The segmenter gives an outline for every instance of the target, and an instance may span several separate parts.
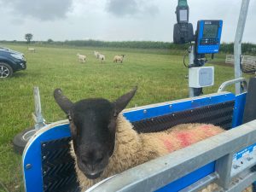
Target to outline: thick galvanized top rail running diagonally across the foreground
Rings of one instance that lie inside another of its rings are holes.
[[[108,179],[91,191],[154,191],[255,143],[256,120],[177,150]],[[221,179],[221,178],[220,178]]]

